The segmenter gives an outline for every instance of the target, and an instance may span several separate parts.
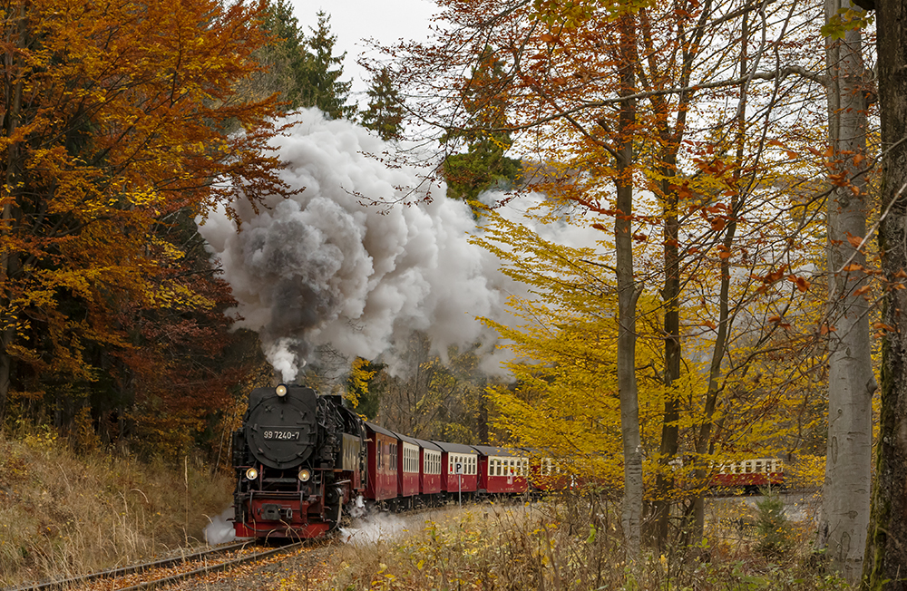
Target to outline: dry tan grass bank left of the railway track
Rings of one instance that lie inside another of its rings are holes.
[[[0,436],[0,586],[74,576],[198,544],[232,481],[198,462],[76,454],[51,431]]]

